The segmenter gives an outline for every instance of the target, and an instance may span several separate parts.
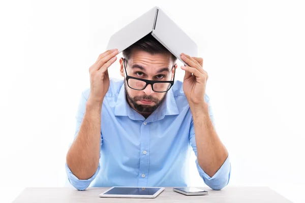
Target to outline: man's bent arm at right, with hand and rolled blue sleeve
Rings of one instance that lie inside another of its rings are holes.
[[[210,118],[205,94],[208,75],[203,70],[203,58],[184,53],[181,58],[189,65],[181,69],[186,71],[183,89],[192,113],[190,142],[197,156],[198,172],[209,187],[220,190],[229,182],[231,164]]]

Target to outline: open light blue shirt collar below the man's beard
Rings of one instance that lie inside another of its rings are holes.
[[[126,99],[124,83],[121,86],[114,109],[115,116],[128,116],[132,120],[145,120],[145,118],[132,109]],[[179,110],[172,88],[166,93],[162,104],[146,119],[146,121],[157,121],[167,115],[178,115]]]

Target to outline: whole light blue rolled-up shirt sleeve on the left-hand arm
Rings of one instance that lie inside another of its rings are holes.
[[[77,137],[77,133],[79,131],[79,128],[80,128],[80,125],[81,125],[81,122],[82,122],[82,119],[84,117],[84,114],[85,114],[85,109],[86,109],[86,102],[87,102],[87,98],[84,96],[84,92],[82,92],[81,94],[81,98],[80,98],[80,101],[79,101],[79,105],[78,105],[78,109],[77,109],[77,113],[76,113],[76,127],[75,127],[75,135],[74,135],[74,140],[75,138]],[[73,140],[73,141],[74,141]],[[103,138],[102,138],[102,134],[101,134],[101,142],[100,142],[100,145],[102,146],[102,141],[103,141]],[[72,143],[71,143],[72,145]],[[70,146],[71,146],[70,145]],[[101,157],[101,152],[100,152],[100,157]],[[80,180],[78,179],[70,170],[67,162],[65,164],[66,166],[66,173],[67,173],[67,176],[68,176],[68,180],[70,182],[70,184],[75,187],[77,190],[85,190],[87,187],[89,187],[90,183],[96,178],[96,176],[98,175],[99,171],[100,171],[100,163],[98,165],[98,168],[97,168],[97,171],[95,172],[95,174],[87,179],[87,180]]]

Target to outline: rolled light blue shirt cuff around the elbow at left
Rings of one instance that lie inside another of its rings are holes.
[[[71,172],[68,164],[66,163],[66,172],[67,172],[68,180],[69,180],[70,184],[73,185],[73,187],[75,187],[77,190],[85,190],[98,175],[98,173],[100,171],[100,167],[101,166],[99,163],[96,173],[91,178],[89,178],[87,180],[79,180],[76,176],[74,176],[74,174]]]

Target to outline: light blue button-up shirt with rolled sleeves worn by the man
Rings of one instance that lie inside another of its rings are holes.
[[[89,89],[82,92],[75,136],[85,112]],[[209,104],[209,97],[205,94]],[[209,116],[214,118],[209,105]],[[75,138],[74,138],[75,139]],[[188,185],[188,159],[192,149],[197,157],[195,131],[182,82],[175,81],[163,103],[146,119],[127,103],[123,80],[110,80],[101,114],[101,151],[96,173],[79,180],[66,163],[69,182],[78,190],[94,187],[185,187]],[[209,177],[199,166],[204,183],[220,190],[230,179],[229,156],[218,172]]]

